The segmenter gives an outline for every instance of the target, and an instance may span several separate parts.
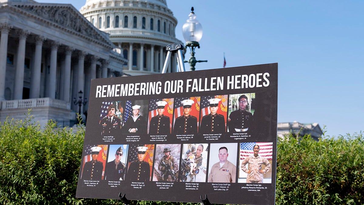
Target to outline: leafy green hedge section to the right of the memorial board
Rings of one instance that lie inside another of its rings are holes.
[[[364,204],[363,134],[278,139],[276,204]]]

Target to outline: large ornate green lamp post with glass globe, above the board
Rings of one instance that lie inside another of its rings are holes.
[[[196,15],[193,12],[193,7],[191,8],[191,13],[188,15],[189,19],[187,19],[186,23],[183,24],[182,34],[183,38],[186,40],[186,47],[190,48],[191,57],[188,61],[184,61],[185,63],[190,64],[190,70],[195,70],[195,65],[198,62],[207,62],[207,61],[197,61],[195,58],[195,49],[196,47],[200,48],[199,41],[202,38],[202,26],[196,19]]]

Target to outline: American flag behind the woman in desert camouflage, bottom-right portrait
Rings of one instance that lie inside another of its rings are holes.
[[[253,155],[254,145],[259,145],[259,154],[268,160],[272,160],[273,142],[243,142],[240,143],[240,159],[243,160],[247,156]]]

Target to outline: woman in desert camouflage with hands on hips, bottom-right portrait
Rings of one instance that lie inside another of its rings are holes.
[[[248,156],[241,162],[241,170],[248,173],[246,183],[263,183],[263,174],[267,173],[270,169],[268,159],[258,155],[259,150],[259,145],[254,145],[254,155]],[[246,169],[246,164],[248,164],[249,169]],[[262,170],[262,165],[265,165],[264,170]]]

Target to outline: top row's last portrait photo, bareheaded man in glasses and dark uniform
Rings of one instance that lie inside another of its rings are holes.
[[[229,95],[229,107],[231,110],[235,109],[229,114],[227,123],[229,132],[237,132],[242,134],[252,133],[253,97],[255,97],[255,93]]]

